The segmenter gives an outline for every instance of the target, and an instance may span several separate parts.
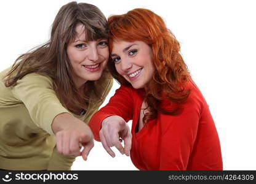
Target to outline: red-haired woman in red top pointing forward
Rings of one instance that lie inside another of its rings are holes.
[[[209,107],[162,18],[134,9],[108,23],[108,68],[121,87],[90,120],[95,139],[113,157],[113,146],[130,155],[140,170],[222,170]]]

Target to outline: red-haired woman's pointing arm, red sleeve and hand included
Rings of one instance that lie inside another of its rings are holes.
[[[132,136],[126,122],[132,119],[132,95],[130,88],[121,85],[110,102],[95,113],[89,123],[95,140],[101,140],[105,150],[113,157],[114,152],[110,149],[113,146],[121,153],[129,155]],[[124,148],[119,142],[119,137],[124,140]]]

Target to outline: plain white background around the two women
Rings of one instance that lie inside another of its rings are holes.
[[[49,39],[55,15],[67,2],[0,1],[0,71]],[[224,169],[256,170],[255,1],[81,2],[98,6],[106,17],[138,7],[163,17],[180,41],[183,58],[209,104]],[[116,88],[117,83],[108,99]],[[99,142],[88,160],[77,158],[72,169],[137,170],[129,157],[117,151],[116,158],[111,158]]]

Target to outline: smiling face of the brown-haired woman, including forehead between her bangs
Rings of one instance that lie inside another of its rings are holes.
[[[74,71],[74,83],[80,88],[88,80],[98,80],[108,61],[108,40],[87,41],[84,26],[76,26],[76,37],[66,48]]]

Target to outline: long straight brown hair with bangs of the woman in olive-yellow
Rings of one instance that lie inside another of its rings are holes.
[[[84,84],[84,94],[74,85],[73,69],[66,53],[67,45],[76,37],[76,25],[85,27],[86,40],[108,39],[108,23],[103,13],[94,5],[70,2],[60,8],[52,25],[50,40],[38,48],[19,56],[6,75],[5,85],[15,86],[26,74],[38,73],[54,81],[54,90],[63,105],[71,111],[86,109],[89,99],[101,100],[97,94],[106,77]],[[97,85],[96,85],[97,83]]]

